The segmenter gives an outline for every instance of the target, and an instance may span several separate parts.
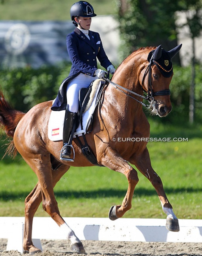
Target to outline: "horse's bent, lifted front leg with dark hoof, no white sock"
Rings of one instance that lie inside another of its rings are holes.
[[[130,210],[134,189],[138,183],[138,174],[137,171],[127,163],[127,161],[121,158],[121,156],[119,156],[119,154],[110,147],[106,149],[105,154],[102,155],[99,162],[109,169],[123,173],[129,183],[128,190],[122,204],[112,206],[110,208],[109,218],[111,220],[115,220],[122,217],[126,211]]]

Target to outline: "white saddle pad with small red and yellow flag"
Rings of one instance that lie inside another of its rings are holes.
[[[99,80],[97,82],[99,82],[99,83],[96,85],[97,88],[96,88],[95,93],[93,93],[94,98],[92,100],[92,104],[90,106],[88,106],[88,104],[87,104],[87,106],[86,106],[87,110],[82,115],[83,130],[81,129],[81,124],[79,124],[79,127],[76,129],[76,131],[74,133],[74,137],[75,137],[75,135],[81,136],[82,133],[86,134],[86,132],[88,131],[88,127],[90,125],[90,119],[95,110],[96,98],[99,93],[99,89],[101,87],[101,81]],[[48,138],[51,141],[62,140],[63,126],[64,126],[64,115],[65,115],[65,110],[51,111],[50,119],[48,122]]]

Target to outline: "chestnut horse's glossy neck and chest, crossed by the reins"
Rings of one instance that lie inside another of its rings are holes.
[[[136,67],[134,67],[134,63]],[[139,95],[143,95],[139,80],[141,80],[140,76],[143,76],[142,74],[145,67],[146,64],[142,63],[142,59],[140,61],[136,60],[136,62],[134,62],[133,59],[129,59],[128,65],[123,62],[116,70],[112,82]],[[99,105],[101,107],[98,111],[101,127],[103,127],[104,123],[105,127],[108,127],[108,131],[110,130],[111,132],[121,132],[130,136],[136,131],[140,134],[144,133],[144,135],[147,136],[149,134],[149,126],[142,105],[129,96],[134,95],[127,91],[125,91],[125,93],[126,94],[109,83],[103,94],[101,105]],[[134,98],[140,101],[142,100],[138,96],[134,96]]]

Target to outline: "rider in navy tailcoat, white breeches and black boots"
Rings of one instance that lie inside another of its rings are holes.
[[[72,62],[69,74],[71,78],[66,89],[66,112],[61,150],[61,159],[66,161],[73,161],[71,148],[79,109],[79,90],[89,87],[93,80],[103,78],[107,73],[105,70],[97,69],[96,57],[108,72],[111,74],[115,72],[114,66],[103,49],[99,33],[89,30],[91,19],[96,16],[92,5],[85,1],[76,2],[70,9],[70,16],[76,28],[66,37],[67,51]]]

